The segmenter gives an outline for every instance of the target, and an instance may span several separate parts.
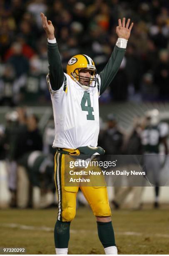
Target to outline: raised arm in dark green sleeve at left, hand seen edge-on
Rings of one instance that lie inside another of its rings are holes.
[[[47,34],[47,56],[49,62],[49,78],[53,91],[60,89],[64,82],[64,72],[60,61],[60,54],[57,47],[54,31],[55,28],[50,20],[47,20],[43,13],[40,13],[42,26]]]

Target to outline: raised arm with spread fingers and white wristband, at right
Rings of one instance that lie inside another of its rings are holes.
[[[130,37],[130,32],[133,26],[133,23],[131,23],[131,25],[129,26],[130,19],[127,20],[126,25],[125,18],[123,18],[122,22],[121,19],[119,19],[118,21],[119,26],[117,26],[116,28],[116,33],[119,38],[108,63],[99,74],[101,79],[100,95],[106,90],[106,88],[109,86],[109,84],[112,82],[113,78],[117,74],[117,71],[119,70],[126,51],[127,41]]]

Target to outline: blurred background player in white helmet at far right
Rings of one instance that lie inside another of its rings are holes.
[[[144,166],[147,170],[149,181],[155,186],[154,207],[159,207],[159,179],[160,169],[160,144],[164,145],[165,154],[168,154],[167,137],[169,126],[160,122],[157,109],[148,110],[146,113],[145,127],[141,133],[141,142],[144,154]]]

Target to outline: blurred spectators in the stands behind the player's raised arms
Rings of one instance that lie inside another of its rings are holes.
[[[131,18],[126,54],[100,101],[169,100],[168,0],[1,0],[0,105],[50,101],[40,12],[55,26],[63,69],[73,55],[87,54],[98,73],[117,41],[118,18]]]

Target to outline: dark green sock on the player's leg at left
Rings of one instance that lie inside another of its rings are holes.
[[[68,248],[70,238],[70,222],[57,220],[54,229],[55,248]]]

